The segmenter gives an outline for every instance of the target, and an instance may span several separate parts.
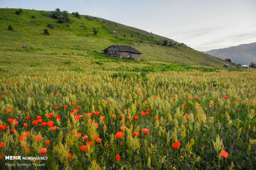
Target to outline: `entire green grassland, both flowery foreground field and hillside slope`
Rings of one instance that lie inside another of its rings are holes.
[[[255,69],[101,18],[16,10],[0,9],[0,169],[255,169]],[[113,43],[142,61],[107,57]]]

